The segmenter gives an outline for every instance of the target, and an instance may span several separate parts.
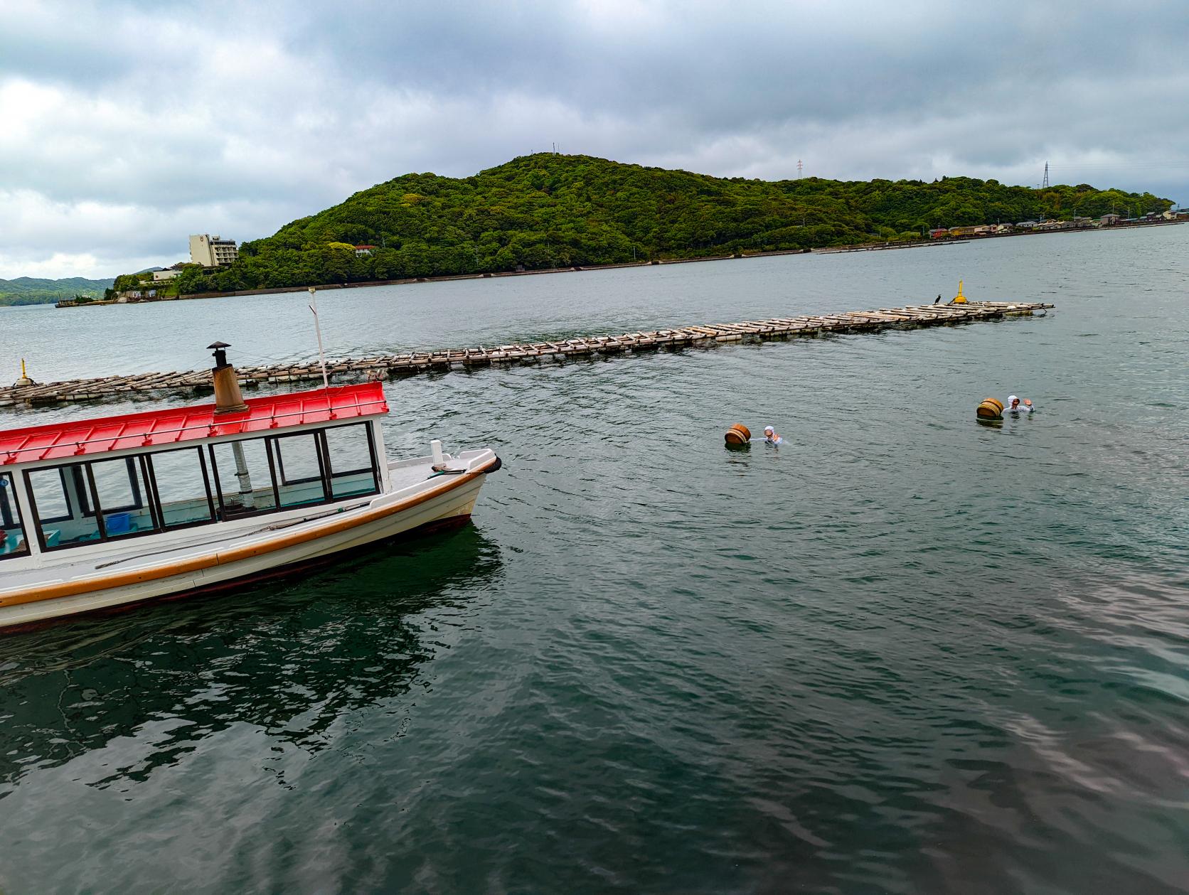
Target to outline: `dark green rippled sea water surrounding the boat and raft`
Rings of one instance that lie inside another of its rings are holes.
[[[391,383],[392,453],[504,458],[472,525],[0,638],[0,889],[1189,890],[1189,227],[358,289],[322,316],[341,355],[960,277],[1058,308]],[[0,357],[308,358],[306,301],[0,310]],[[1008,392],[1038,412],[975,424]],[[726,452],[736,421],[787,445]]]

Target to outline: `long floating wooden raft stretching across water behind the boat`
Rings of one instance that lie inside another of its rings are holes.
[[[905,308],[847,311],[799,317],[748,320],[741,323],[687,326],[678,329],[656,329],[649,333],[594,335],[564,339],[556,342],[499,345],[478,348],[410,352],[404,354],[373,354],[329,361],[327,376],[336,383],[360,379],[380,379],[423,373],[430,370],[467,370],[493,364],[533,364],[542,360],[562,360],[593,354],[652,351],[665,347],[686,347],[709,342],[763,341],[797,335],[824,333],[870,332],[888,327],[944,326],[1006,316],[1031,315],[1052,308],[1033,302],[969,302],[967,304],[913,304]],[[241,367],[239,382],[252,386],[262,383],[321,382],[322,371],[316,363],[278,364]],[[210,387],[209,370],[182,373],[139,373],[109,376],[101,379],[74,379],[40,385],[0,387],[0,406],[17,403],[56,404],[103,398],[125,398],[132,395],[193,391]]]

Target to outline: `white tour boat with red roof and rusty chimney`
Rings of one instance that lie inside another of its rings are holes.
[[[490,449],[388,461],[379,383],[0,431],[0,628],[214,591],[470,518]]]

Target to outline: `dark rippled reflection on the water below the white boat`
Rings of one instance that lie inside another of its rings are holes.
[[[237,723],[317,751],[345,712],[413,686],[435,654],[422,613],[465,613],[501,567],[468,525],[297,582],[6,637],[0,798],[32,770],[146,731],[152,748],[93,784],[145,779]]]

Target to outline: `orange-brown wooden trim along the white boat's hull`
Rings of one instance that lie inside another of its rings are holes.
[[[472,469],[471,472],[461,475],[452,475],[446,479],[443,485],[430,489],[429,491],[414,497],[405,498],[404,500],[394,503],[390,506],[367,510],[359,515],[352,513],[348,518],[336,519],[328,524],[317,525],[316,528],[307,531],[295,531],[288,535],[282,535],[279,537],[270,538],[265,543],[216,550],[205,556],[196,556],[191,560],[182,560],[168,566],[157,566],[155,568],[140,569],[137,572],[125,572],[82,581],[62,581],[46,587],[27,587],[0,597],[0,610],[29,603],[40,603],[42,600],[54,600],[63,597],[78,597],[87,593],[130,587],[133,585],[145,584],[147,581],[156,581],[163,578],[172,578],[175,575],[185,575],[194,572],[201,572],[202,569],[213,568],[215,566],[227,566],[234,562],[252,559],[254,556],[262,556],[289,547],[296,547],[310,541],[316,541],[329,535],[335,535],[341,531],[365,525],[370,522],[384,519],[398,512],[404,512],[414,506],[426,503],[427,500],[433,500],[438,497],[447,494],[451,491],[473,481],[479,475],[486,473],[489,469],[492,469],[492,467],[498,468],[498,462],[499,458],[493,458],[479,469]],[[0,622],[0,625],[4,623]]]

